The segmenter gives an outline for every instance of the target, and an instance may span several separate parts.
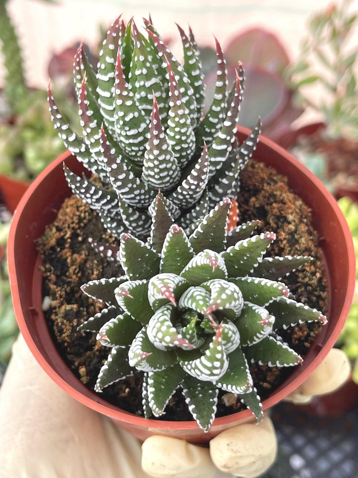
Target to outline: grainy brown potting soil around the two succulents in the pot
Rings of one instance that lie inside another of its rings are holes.
[[[242,222],[260,219],[258,231],[273,231],[277,240],[271,255],[309,255],[313,261],[284,279],[297,300],[325,313],[326,280],[318,238],[307,206],[287,187],[286,179],[262,163],[249,162],[241,174],[238,198]],[[268,205],[270,207],[268,208]],[[109,349],[96,341],[96,334],[77,328],[103,307],[84,293],[82,284],[122,274],[116,261],[108,262],[90,246],[88,238],[116,243],[103,230],[98,216],[76,197],[65,200],[56,221],[38,240],[43,256],[44,313],[53,340],[73,373],[93,390]],[[321,324],[311,323],[279,331],[292,349],[305,356]],[[253,364],[251,373],[262,399],[292,371],[290,367]],[[142,372],[103,389],[101,397],[138,415],[142,414]],[[217,416],[240,411],[244,405],[232,393],[220,392]],[[166,408],[164,420],[192,420],[180,389]]]

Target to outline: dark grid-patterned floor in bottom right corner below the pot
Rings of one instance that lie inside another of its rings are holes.
[[[262,478],[358,478],[358,404],[329,418],[280,404],[272,421],[278,459]]]

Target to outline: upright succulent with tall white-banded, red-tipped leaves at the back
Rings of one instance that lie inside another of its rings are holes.
[[[65,122],[49,88],[55,128],[101,180],[101,185],[94,184],[65,167],[68,184],[117,238],[127,231],[142,239],[149,234],[150,205],[158,188],[177,223],[192,232],[192,225],[218,201],[236,197],[240,170],[256,149],[260,121],[242,145],[234,135],[244,87],[242,66],[229,95],[216,41],[215,93],[202,118],[197,45],[191,30],[187,36],[178,28],[183,65],[151,20],[145,20],[142,34],[133,19],[126,26],[117,18],[103,42],[96,74],[79,48],[74,72],[84,139]]]

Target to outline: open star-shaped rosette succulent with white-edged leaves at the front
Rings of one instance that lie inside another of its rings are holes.
[[[258,221],[226,232],[230,205],[230,199],[221,201],[187,236],[158,193],[147,243],[121,235],[117,260],[125,275],[82,287],[106,304],[80,326],[97,331],[111,348],[96,391],[141,370],[147,418],[162,415],[181,387],[189,411],[207,431],[219,389],[236,394],[260,419],[250,363],[302,362],[277,330],[326,318],[296,302],[279,279],[310,258],[264,257],[275,235],[252,236]]]

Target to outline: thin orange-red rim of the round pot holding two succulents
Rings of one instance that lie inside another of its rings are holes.
[[[251,131],[247,128],[238,126],[238,132],[241,134],[248,135]],[[307,376],[310,375],[312,371],[319,365],[319,363],[325,358],[328,351],[335,344],[341,332],[341,329],[344,325],[345,319],[348,315],[348,312],[350,310],[351,303],[352,303],[352,297],[353,297],[353,292],[355,287],[356,259],[355,259],[355,252],[353,248],[353,241],[352,241],[350,230],[348,228],[344,215],[342,211],[340,210],[334,197],[327,191],[327,189],[323,186],[323,184],[311,171],[309,171],[303,164],[301,164],[297,159],[295,159],[291,154],[289,154],[283,148],[281,148],[280,146],[270,141],[268,138],[261,135],[260,135],[260,142],[264,144],[266,147],[268,147],[269,149],[283,156],[291,166],[293,166],[296,170],[300,171],[302,174],[307,176],[310,182],[313,183],[313,186],[315,188],[318,188],[322,192],[322,194],[326,197],[327,202],[329,203],[330,207],[334,211],[335,216],[337,217],[337,220],[342,228],[344,237],[346,239],[347,255],[348,255],[347,287],[345,289],[346,293],[344,298],[344,304],[342,306],[341,313],[340,313],[340,318],[337,322],[335,329],[331,333],[331,336],[325,341],[324,345],[322,345],[320,341],[314,342],[314,344],[310,348],[309,353],[311,353],[311,355],[314,355],[315,357],[314,359],[311,359],[311,361],[304,368],[304,370],[301,373],[298,373],[297,376],[286,385],[285,385],[285,382],[286,382],[285,381],[281,386],[275,389],[275,391],[269,396],[269,398],[263,401],[263,410],[267,410],[268,408],[276,404],[278,401],[280,401],[282,398],[284,398],[288,393],[290,393],[290,391],[294,390],[300,383],[302,383],[304,379],[307,378]],[[19,296],[19,289],[17,285],[17,272],[15,267],[16,230],[20,220],[22,219],[21,213],[23,211],[23,208],[25,207],[27,201],[33,195],[34,191],[36,191],[38,186],[42,183],[44,178],[46,178],[46,176],[51,171],[53,171],[56,167],[59,166],[59,164],[61,164],[65,159],[68,159],[69,157],[71,157],[71,154],[69,153],[69,151],[66,151],[61,156],[59,156],[55,161],[53,161],[42,173],[40,173],[40,175],[34,180],[34,182],[30,185],[28,190],[25,192],[24,196],[20,200],[14,212],[14,216],[13,216],[13,220],[12,220],[10,232],[9,232],[7,254],[8,254],[9,278],[10,278],[11,292],[12,292],[13,303],[14,303],[14,310],[15,310],[15,315],[19,324],[20,331],[23,334],[23,337],[27,345],[29,346],[30,350],[32,351],[32,354],[34,355],[35,359],[39,362],[39,364],[46,371],[46,373],[62,389],[64,389],[67,393],[69,393],[72,397],[76,398],[81,403],[87,405],[89,408],[92,408],[100,413],[103,413],[115,420],[120,420],[120,421],[124,420],[125,422],[133,425],[134,427],[138,427],[138,428],[145,427],[146,429],[149,429],[149,430],[153,428],[155,429],[156,432],[159,432],[160,430],[165,432],[166,430],[173,429],[173,428],[174,429],[178,428],[181,430],[188,430],[188,431],[198,429],[199,427],[195,421],[173,422],[173,421],[164,421],[164,420],[162,421],[162,420],[145,419],[144,417],[139,417],[137,415],[121,410],[118,407],[114,407],[113,405],[110,405],[109,403],[105,405],[104,403],[106,402],[104,402],[104,400],[98,397],[94,392],[91,392],[91,394],[94,395],[94,397],[89,397],[84,395],[82,392],[80,392],[79,390],[75,389],[72,385],[70,385],[64,378],[62,378],[62,376],[59,375],[59,373],[56,370],[54,370],[54,368],[51,366],[49,361],[46,358],[44,358],[44,356],[40,352],[38,348],[38,344],[37,344],[38,341],[36,340],[36,338],[32,337],[32,335],[29,332],[29,329],[27,327],[26,320],[24,318],[24,314],[22,311],[20,296]],[[321,334],[319,334],[319,337],[321,337]],[[54,349],[55,349],[55,346],[54,346]],[[301,365],[298,365],[298,366],[301,366]],[[73,375],[72,371],[69,368],[68,368],[68,373]],[[80,383],[81,385],[83,385],[82,382]],[[85,385],[83,386],[85,387]],[[239,418],[238,418],[238,415],[240,415]],[[253,420],[254,417],[249,409],[241,411],[241,412],[233,413],[225,417],[217,417],[215,418],[211,426],[210,432],[214,429],[220,429],[220,428],[223,429],[225,425],[235,422],[238,419],[240,420],[240,422],[242,422],[242,421]]]

